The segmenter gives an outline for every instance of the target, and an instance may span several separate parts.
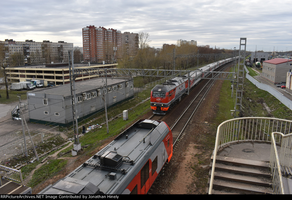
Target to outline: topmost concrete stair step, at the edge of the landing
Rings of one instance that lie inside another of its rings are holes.
[[[211,157],[211,160],[213,161],[213,155]],[[241,158],[231,158],[231,157],[226,157],[226,156],[216,156],[216,163],[217,162],[224,162],[224,163],[230,163],[233,165],[243,165],[243,166],[250,166],[250,167],[257,167],[257,168],[264,168],[264,169],[270,168],[270,165],[268,162],[257,161],[257,160],[247,160],[247,159],[241,159]]]

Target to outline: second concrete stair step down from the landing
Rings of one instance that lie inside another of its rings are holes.
[[[212,166],[212,162],[211,165]],[[212,169],[212,167],[211,167]],[[245,166],[234,166],[234,165],[226,165],[223,163],[215,163],[215,170],[223,170],[228,172],[240,173],[240,174],[249,174],[249,175],[256,175],[256,176],[265,176],[271,177],[270,171],[265,169],[257,169]]]

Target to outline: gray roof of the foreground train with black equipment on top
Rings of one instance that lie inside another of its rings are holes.
[[[141,119],[39,194],[121,194],[169,131],[165,122]]]

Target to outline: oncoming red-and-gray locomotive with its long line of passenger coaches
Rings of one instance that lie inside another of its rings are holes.
[[[162,83],[162,85],[156,85],[151,90],[150,106],[154,114],[165,115],[166,112],[178,103],[187,93],[188,90],[197,85],[202,77],[208,76],[211,71],[229,63],[233,58],[220,60],[215,63],[211,63],[196,70],[196,72],[190,72],[190,84],[187,74],[183,77],[175,77]],[[190,88],[188,88],[190,86]]]

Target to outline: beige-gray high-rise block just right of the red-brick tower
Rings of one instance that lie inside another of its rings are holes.
[[[137,55],[139,49],[139,34],[124,32],[121,34],[121,40],[122,51],[125,51],[130,59],[134,58]]]

